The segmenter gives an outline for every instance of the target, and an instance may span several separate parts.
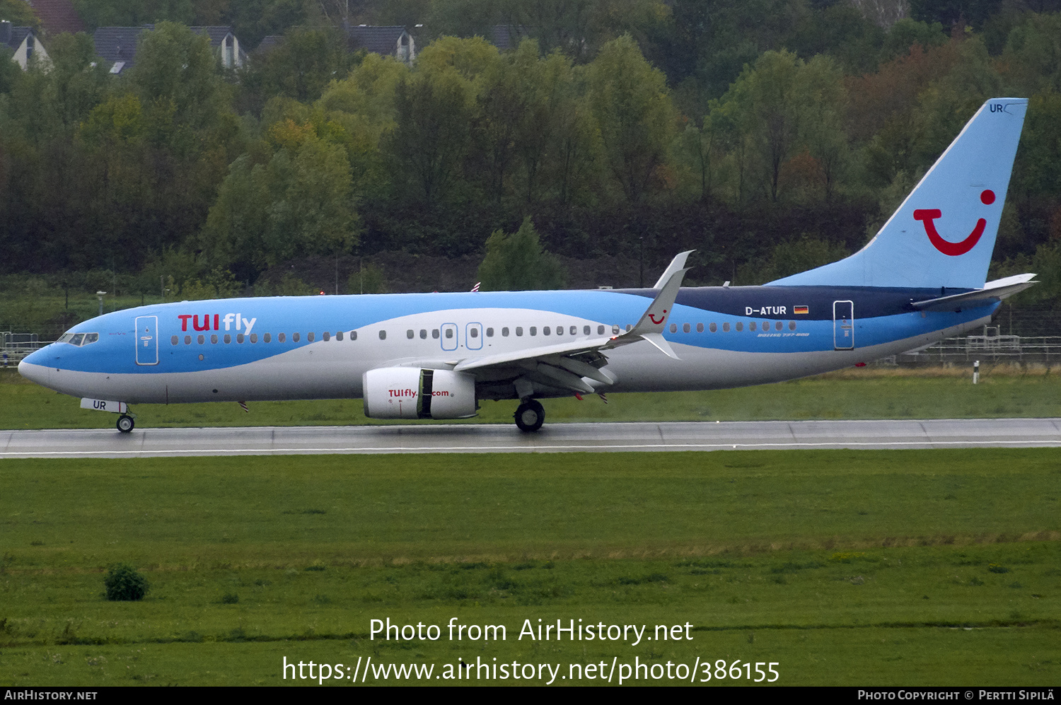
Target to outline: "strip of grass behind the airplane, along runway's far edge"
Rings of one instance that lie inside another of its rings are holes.
[[[1061,416],[1061,372],[1050,368],[984,366],[980,384],[959,368],[851,369],[783,384],[706,392],[612,394],[545,400],[545,422],[754,421],[769,419],[968,419]],[[0,428],[108,428],[115,416],[87,411],[79,400],[0,372]],[[484,402],[467,422],[511,423],[516,402]],[[139,428],[172,426],[353,425],[366,419],[361,400],[140,404]]]

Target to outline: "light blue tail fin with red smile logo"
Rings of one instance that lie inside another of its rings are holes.
[[[866,247],[770,284],[982,287],[1027,107],[985,103]]]

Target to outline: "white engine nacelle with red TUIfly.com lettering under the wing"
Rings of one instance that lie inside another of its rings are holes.
[[[384,367],[362,377],[370,419],[467,419],[475,416],[475,375]]]

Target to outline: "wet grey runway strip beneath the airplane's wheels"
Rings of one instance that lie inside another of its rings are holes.
[[[1058,446],[1061,419],[0,430],[0,458]]]

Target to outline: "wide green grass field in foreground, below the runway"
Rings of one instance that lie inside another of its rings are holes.
[[[5,460],[0,487],[3,685],[290,684],[284,657],[369,656],[1061,680],[1057,450]],[[103,599],[118,562],[144,600]],[[370,638],[388,617],[442,636]],[[454,617],[507,638],[451,640]],[[538,619],[692,638],[518,638]]]

